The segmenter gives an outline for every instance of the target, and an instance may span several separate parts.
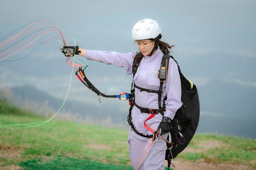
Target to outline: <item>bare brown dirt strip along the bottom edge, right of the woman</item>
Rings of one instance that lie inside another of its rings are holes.
[[[250,169],[247,165],[232,165],[232,164],[213,164],[213,163],[206,163],[204,159],[199,159],[195,162],[189,162],[182,159],[174,159],[173,162],[175,168],[171,166],[173,170],[216,170],[216,169],[225,169],[225,170],[247,170]],[[168,166],[167,161],[165,160],[164,166]]]

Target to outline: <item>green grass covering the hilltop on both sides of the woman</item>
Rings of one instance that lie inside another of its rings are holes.
[[[0,100],[0,124],[44,120],[46,118],[12,106],[6,100]],[[1,128],[0,169],[1,166],[6,165],[19,165],[26,168],[52,165],[54,169],[55,164],[56,168],[64,166],[64,160],[73,162],[70,165],[77,162],[79,165],[83,164],[83,167],[92,164],[101,167],[99,163],[101,162],[108,163],[104,166],[116,165],[115,167],[122,169],[130,163],[127,137],[127,129],[76,124],[55,119],[37,128]],[[243,164],[256,168],[256,140],[216,134],[196,134],[189,147],[201,149],[198,143],[210,140],[220,141],[225,147],[212,148],[199,153],[180,153],[177,158],[192,162],[204,159],[206,162]]]

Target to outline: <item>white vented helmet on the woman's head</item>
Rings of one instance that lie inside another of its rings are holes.
[[[159,34],[161,34],[161,28],[158,26],[158,23],[152,19],[140,20],[132,28],[133,40],[154,39]]]

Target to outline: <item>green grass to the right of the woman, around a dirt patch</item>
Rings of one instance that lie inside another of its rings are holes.
[[[203,158],[205,162],[243,164],[256,168],[256,140],[235,136],[220,136],[217,134],[196,134],[188,146],[196,146],[209,140],[220,141],[224,146],[212,148],[200,153],[180,153],[179,157],[189,161]]]

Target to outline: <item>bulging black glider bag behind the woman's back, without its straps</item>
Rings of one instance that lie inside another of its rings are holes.
[[[171,140],[174,143],[172,147],[172,158],[175,158],[188,146],[196,132],[200,115],[199,97],[196,85],[183,76],[179,65],[178,69],[181,80],[182,106],[177,110],[174,118],[181,126],[181,131],[179,133],[175,130],[170,130]],[[171,126],[175,128],[179,128],[178,124],[175,121],[171,122]],[[168,139],[169,138],[170,137],[168,137]],[[166,150],[166,158],[168,158],[168,155],[170,155],[170,150]]]

